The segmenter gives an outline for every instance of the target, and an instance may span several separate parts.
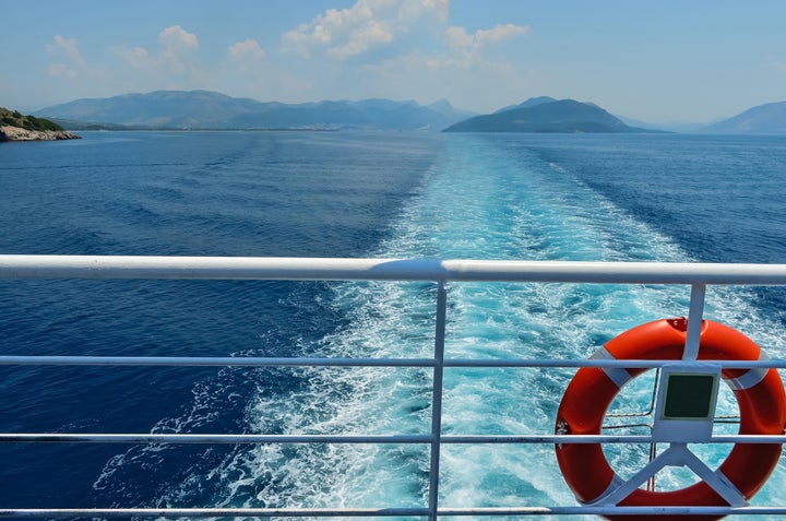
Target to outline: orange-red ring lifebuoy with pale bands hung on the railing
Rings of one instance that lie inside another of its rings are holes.
[[[657,320],[633,328],[609,341],[593,358],[680,359],[687,334],[686,319]],[[702,322],[699,359],[758,360],[765,355],[749,338],[727,325]],[[556,431],[598,435],[611,401],[620,388],[646,369],[582,367],[571,380],[557,412]],[[740,410],[739,434],[783,435],[786,425],[786,393],[774,368],[724,369]],[[750,499],[764,485],[781,457],[781,443],[736,443],[716,472],[740,495]],[[621,483],[604,455],[600,443],[557,446],[562,475],[579,501],[600,499]],[[635,489],[619,506],[725,506],[710,485],[701,481],[668,492]],[[610,519],[624,519],[611,516]],[[636,516],[636,521],[662,519]],[[693,519],[693,517],[691,517]],[[717,519],[700,517],[696,519]]]

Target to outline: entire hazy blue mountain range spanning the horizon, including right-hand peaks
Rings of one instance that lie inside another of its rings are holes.
[[[35,113],[71,130],[287,129],[431,130],[450,132],[652,132],[786,133],[786,102],[748,109],[702,128],[664,129],[615,116],[593,103],[549,96],[477,116],[446,100],[364,99],[285,104],[236,98],[210,91],[156,91],[84,98]]]

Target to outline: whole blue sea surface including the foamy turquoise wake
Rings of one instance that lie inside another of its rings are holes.
[[[83,138],[0,145],[0,253],[786,262],[786,137]],[[0,351],[429,356],[433,298],[413,283],[0,281]],[[688,298],[687,287],[453,284],[448,356],[584,358],[633,325],[687,315]],[[783,289],[711,287],[705,315],[786,356]],[[444,431],[550,434],[571,375],[448,370]],[[646,400],[644,383],[620,407]],[[416,369],[0,367],[0,430],[12,433],[430,428],[430,375]],[[733,412],[729,394],[720,407]],[[643,464],[635,448],[609,458],[623,475]],[[427,501],[428,451],[413,446],[3,443],[0,461],[0,508]],[[575,500],[550,446],[443,448],[442,506],[559,504]],[[786,464],[753,504],[786,504]]]

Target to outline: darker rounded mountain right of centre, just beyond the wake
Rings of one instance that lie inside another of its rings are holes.
[[[527,103],[527,102],[525,102]],[[629,127],[603,108],[573,99],[535,103],[476,116],[445,132],[651,132]]]

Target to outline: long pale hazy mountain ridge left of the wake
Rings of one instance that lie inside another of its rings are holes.
[[[446,102],[364,99],[303,104],[262,103],[209,91],[157,91],[76,99],[38,110],[59,121],[100,122],[131,128],[177,129],[395,129],[441,130],[467,117]]]

